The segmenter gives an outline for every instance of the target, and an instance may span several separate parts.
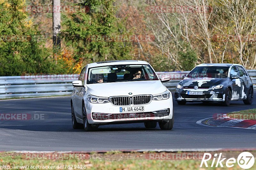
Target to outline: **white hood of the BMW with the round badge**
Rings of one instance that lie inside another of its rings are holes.
[[[86,85],[86,87],[90,94],[99,97],[154,95],[167,90],[159,80],[97,83]],[[132,92],[132,94],[129,95],[129,92]]]

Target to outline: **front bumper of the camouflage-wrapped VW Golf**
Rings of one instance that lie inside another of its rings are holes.
[[[188,95],[188,92],[203,92],[203,95]],[[174,93],[174,100],[176,101],[224,101],[225,88],[221,89],[177,89]]]

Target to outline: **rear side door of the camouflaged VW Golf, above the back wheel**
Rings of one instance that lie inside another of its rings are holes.
[[[242,66],[236,67],[240,75],[242,98],[246,98],[247,91],[249,90],[250,87],[250,78]]]

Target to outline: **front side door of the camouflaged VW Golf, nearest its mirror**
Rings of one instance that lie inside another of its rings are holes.
[[[239,78],[232,78],[233,77],[239,77],[238,70],[236,69],[236,66],[232,66],[230,70],[230,79],[232,81],[232,88],[233,93],[232,97],[233,99],[238,99],[241,97],[240,90],[241,90],[241,81]]]

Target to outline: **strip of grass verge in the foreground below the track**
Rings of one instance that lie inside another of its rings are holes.
[[[202,166],[200,168],[201,160],[199,159],[198,154],[201,154],[201,157],[204,155],[204,152],[196,152],[197,159],[189,159],[191,157],[188,156],[188,153],[192,152],[108,152],[106,153],[88,153],[86,157],[83,157],[83,159],[79,159],[79,156],[76,157],[76,159],[67,159],[70,157],[61,157],[58,156],[52,156],[53,153],[51,153],[51,156],[45,156],[41,154],[41,156],[38,155],[32,155],[30,153],[12,153],[12,152],[2,152],[0,153],[0,167],[1,165],[4,166],[10,166],[10,167],[16,167],[14,169],[28,169],[18,168],[17,166],[55,166],[55,168],[52,167],[52,169],[72,169],[70,166],[73,166],[73,169],[76,165],[83,165],[83,168],[86,166],[86,169],[216,169],[216,161],[213,164],[214,167],[205,167]],[[195,153],[195,152],[194,152]],[[211,152],[210,152],[211,153]],[[220,153],[220,152],[215,152]],[[237,158],[237,156],[241,152],[226,152],[225,154],[226,158]],[[256,152],[251,152],[253,155],[255,155]],[[27,154],[27,155],[26,155]],[[46,153],[45,153],[46,154]],[[55,153],[56,154],[56,153]],[[63,153],[62,153],[63,154]],[[68,153],[66,153],[68,154]],[[70,153],[69,153],[70,154]],[[81,154],[81,153],[80,153]],[[151,157],[149,154],[153,154]],[[183,158],[183,159],[166,159],[167,154],[169,154],[170,158]],[[183,154],[185,154],[183,156]],[[193,154],[193,153],[192,153]],[[211,153],[212,156],[214,155],[214,152]],[[49,153],[48,153],[49,155]],[[161,157],[162,155],[162,157]],[[196,154],[195,154],[196,155]],[[164,156],[164,157],[163,157]],[[173,157],[174,156],[174,157]],[[54,158],[54,159],[53,159]],[[81,157],[80,157],[81,158]],[[163,158],[163,159],[161,159]],[[222,157],[223,158],[223,157]],[[226,159],[226,160],[227,160]],[[217,160],[217,158],[216,158]],[[212,165],[213,159],[209,160],[208,166]],[[218,166],[217,169],[228,169],[225,165],[226,161],[223,161],[224,168],[221,168]],[[59,165],[59,168],[56,168]],[[68,166],[60,168],[60,166]],[[85,165],[85,166],[84,166]],[[1,169],[1,168],[0,168]],[[31,169],[31,168],[30,168]],[[33,168],[33,169],[40,169],[40,168]],[[41,167],[42,169],[42,167]],[[80,169],[80,168],[79,168]],[[232,169],[241,169],[240,166],[238,166],[237,162],[234,164]],[[256,169],[256,164],[252,167],[252,169]]]

